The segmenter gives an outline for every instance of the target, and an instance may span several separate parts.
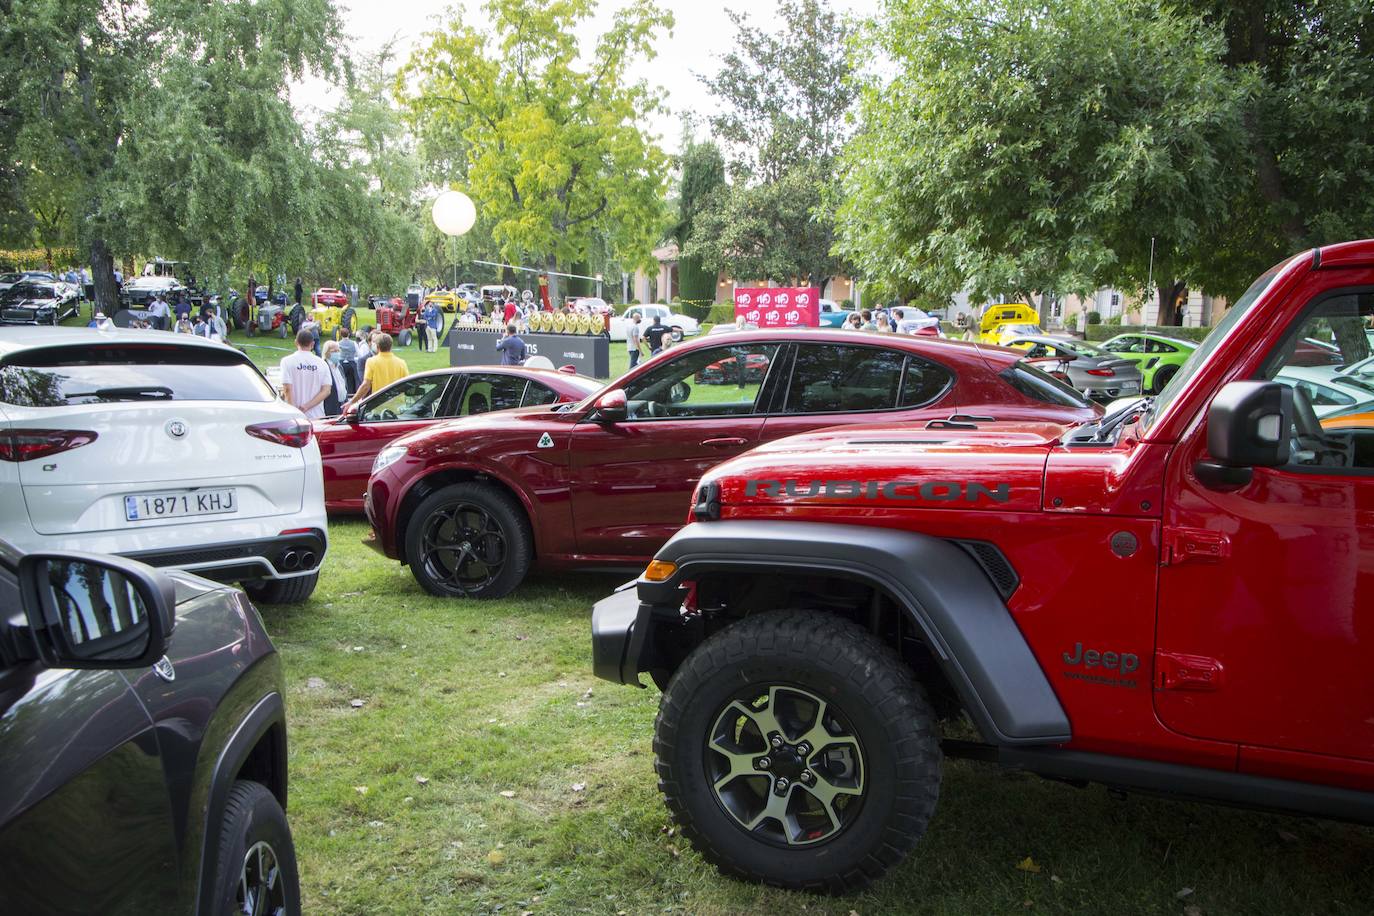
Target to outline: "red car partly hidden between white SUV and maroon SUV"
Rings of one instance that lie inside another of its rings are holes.
[[[392,439],[441,420],[540,404],[580,401],[602,387],[583,375],[522,367],[464,367],[416,372],[342,416],[315,422],[324,460],[324,508],[361,512],[372,461]]]

